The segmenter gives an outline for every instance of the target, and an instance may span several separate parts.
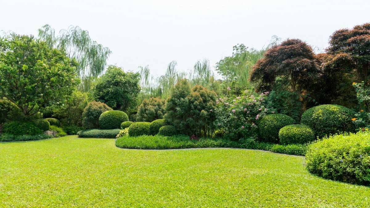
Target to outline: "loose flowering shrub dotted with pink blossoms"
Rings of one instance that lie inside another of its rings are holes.
[[[241,95],[228,95],[216,100],[217,128],[225,130],[228,137],[255,137],[258,134],[257,121],[266,114],[275,113],[267,107],[266,96],[269,92],[256,95],[252,90],[245,90]]]

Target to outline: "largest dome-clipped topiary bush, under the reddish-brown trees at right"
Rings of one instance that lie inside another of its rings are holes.
[[[341,105],[318,105],[302,114],[301,123],[308,125],[318,137],[353,131],[353,112]]]

